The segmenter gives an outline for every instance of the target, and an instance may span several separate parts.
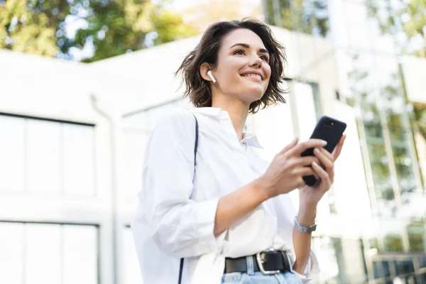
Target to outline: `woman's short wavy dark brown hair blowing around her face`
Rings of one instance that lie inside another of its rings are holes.
[[[261,99],[250,104],[249,113],[256,114],[261,108],[265,109],[279,102],[285,103],[283,94],[288,90],[283,89],[280,85],[284,79],[284,67],[287,63],[285,47],[275,40],[271,28],[265,23],[244,18],[241,21],[222,21],[209,26],[202,35],[200,43],[185,57],[175,72],[175,76],[182,75],[180,87],[185,84],[184,97],[190,97],[190,101],[195,107],[212,107],[212,91],[208,82],[200,75],[200,66],[204,62],[209,63],[212,67],[217,65],[217,55],[222,45],[222,39],[237,28],[246,28],[256,33],[270,55],[271,78],[268,88]]]

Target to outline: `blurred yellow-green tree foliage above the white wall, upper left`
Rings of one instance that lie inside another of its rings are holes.
[[[169,2],[0,0],[0,48],[72,59],[92,45],[92,62],[197,34]]]

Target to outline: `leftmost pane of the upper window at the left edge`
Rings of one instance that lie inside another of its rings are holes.
[[[24,189],[25,120],[0,116],[0,190]]]

